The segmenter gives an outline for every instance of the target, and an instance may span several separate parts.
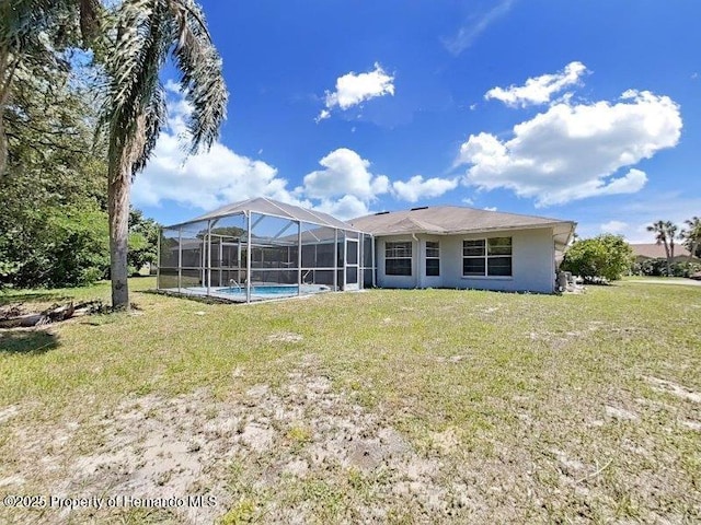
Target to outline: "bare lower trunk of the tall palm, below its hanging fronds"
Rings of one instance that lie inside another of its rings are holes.
[[[128,155],[124,155],[128,156]],[[129,277],[127,241],[129,237],[130,162],[110,166],[107,210],[110,213],[110,277],[112,279],[112,307],[129,310]]]

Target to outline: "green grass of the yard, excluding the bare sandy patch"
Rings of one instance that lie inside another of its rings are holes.
[[[701,393],[701,288],[624,281],[563,296],[377,290],[242,306],[143,293],[153,284],[130,281],[136,315],[0,335],[0,410],[21,409],[0,423],[0,480],[21,464],[19,435],[78,421],[76,453],[88,452],[104,439],[93,435],[95,421],[127,396],[206,387],[234,402],[254,385],[281,392],[307,360],[307,374],[329,378],[349,406],[438,460],[437,487],[468,487],[476,514],[462,504],[457,514],[415,515],[382,493],[382,472],[336,466],[278,492],[239,465],[235,483],[249,489],[229,489],[222,523],[274,521],[273,510],[303,502],[318,523],[363,520],[358,509],[371,505],[392,523],[701,520],[701,405],[646,380]],[[108,292],[99,284],[2,301],[30,307]],[[302,339],[279,337],[289,332]],[[611,417],[611,407],[633,417]],[[290,454],[303,453],[314,420],[281,435]],[[48,490],[41,479],[30,486]]]

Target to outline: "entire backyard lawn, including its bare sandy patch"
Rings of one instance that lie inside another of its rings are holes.
[[[130,284],[133,314],[0,334],[0,497],[114,498],[1,523],[701,521],[701,287]],[[108,287],[0,296],[66,298]]]

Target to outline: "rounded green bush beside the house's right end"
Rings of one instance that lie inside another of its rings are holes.
[[[610,281],[628,273],[633,262],[633,249],[621,235],[605,233],[577,241],[567,248],[561,269],[586,280],[605,278]]]

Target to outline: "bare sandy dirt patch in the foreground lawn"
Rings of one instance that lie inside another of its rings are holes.
[[[85,427],[92,445],[81,443]],[[174,398],[133,396],[81,425],[16,430],[13,439],[15,469],[24,477],[4,472],[5,489],[19,489],[26,477],[58,497],[216,497],[216,506],[169,510],[175,523],[212,523],[229,509],[233,517],[244,509],[266,523],[309,523],[320,512],[331,521],[374,522],[388,513],[447,512],[469,500],[464,487],[444,483],[438,458],[422,456],[380,416],[303,364],[279,388],[258,384],[226,401],[205,388]],[[441,451],[459,446],[452,430],[434,441]],[[346,491],[359,500],[342,504]],[[20,522],[32,518],[31,511],[16,512]],[[125,513],[64,509],[46,512],[42,522],[100,523]]]

